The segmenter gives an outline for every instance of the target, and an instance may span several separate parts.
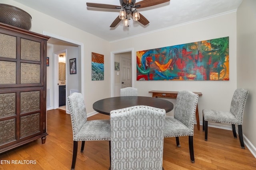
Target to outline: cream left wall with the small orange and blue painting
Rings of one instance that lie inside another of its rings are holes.
[[[56,20],[51,16],[42,14],[14,0],[1,0],[1,3],[10,4],[28,12],[32,16],[32,27],[30,31],[40,34],[42,34],[43,31],[48,32],[59,37],[65,37],[66,39],[80,42],[84,45],[84,55],[82,56],[84,57],[84,63],[82,64],[84,65],[85,71],[82,75],[84,78],[82,92],[84,93],[86,111],[88,113],[94,111],[92,108],[94,102],[110,96],[110,44],[108,41]],[[104,55],[105,70],[103,81],[92,81],[92,52]],[[50,77],[51,75],[47,76]]]

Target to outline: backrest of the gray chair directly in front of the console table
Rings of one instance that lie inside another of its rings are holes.
[[[197,102],[198,94],[186,90],[180,91],[178,92],[174,108],[174,118],[186,125],[193,134]]]

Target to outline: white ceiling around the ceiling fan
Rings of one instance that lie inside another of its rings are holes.
[[[119,10],[91,8],[86,6],[86,2],[120,6],[119,0],[15,1],[107,41],[125,39],[219,14],[234,12],[242,2],[242,0],[170,0],[170,2],[164,4],[138,9],[150,21],[146,26],[138,21],[130,20],[129,27],[124,27],[121,21],[115,28],[110,28],[111,23],[118,16]]]

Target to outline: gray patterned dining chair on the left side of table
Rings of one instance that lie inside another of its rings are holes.
[[[82,141],[81,152],[84,151],[85,141],[110,141],[110,120],[87,121],[84,98],[81,93],[74,92],[68,96],[68,105],[70,108],[74,141],[71,170],[74,170],[78,141]]]

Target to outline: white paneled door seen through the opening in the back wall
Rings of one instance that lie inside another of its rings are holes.
[[[121,88],[132,87],[132,60],[121,57]]]

